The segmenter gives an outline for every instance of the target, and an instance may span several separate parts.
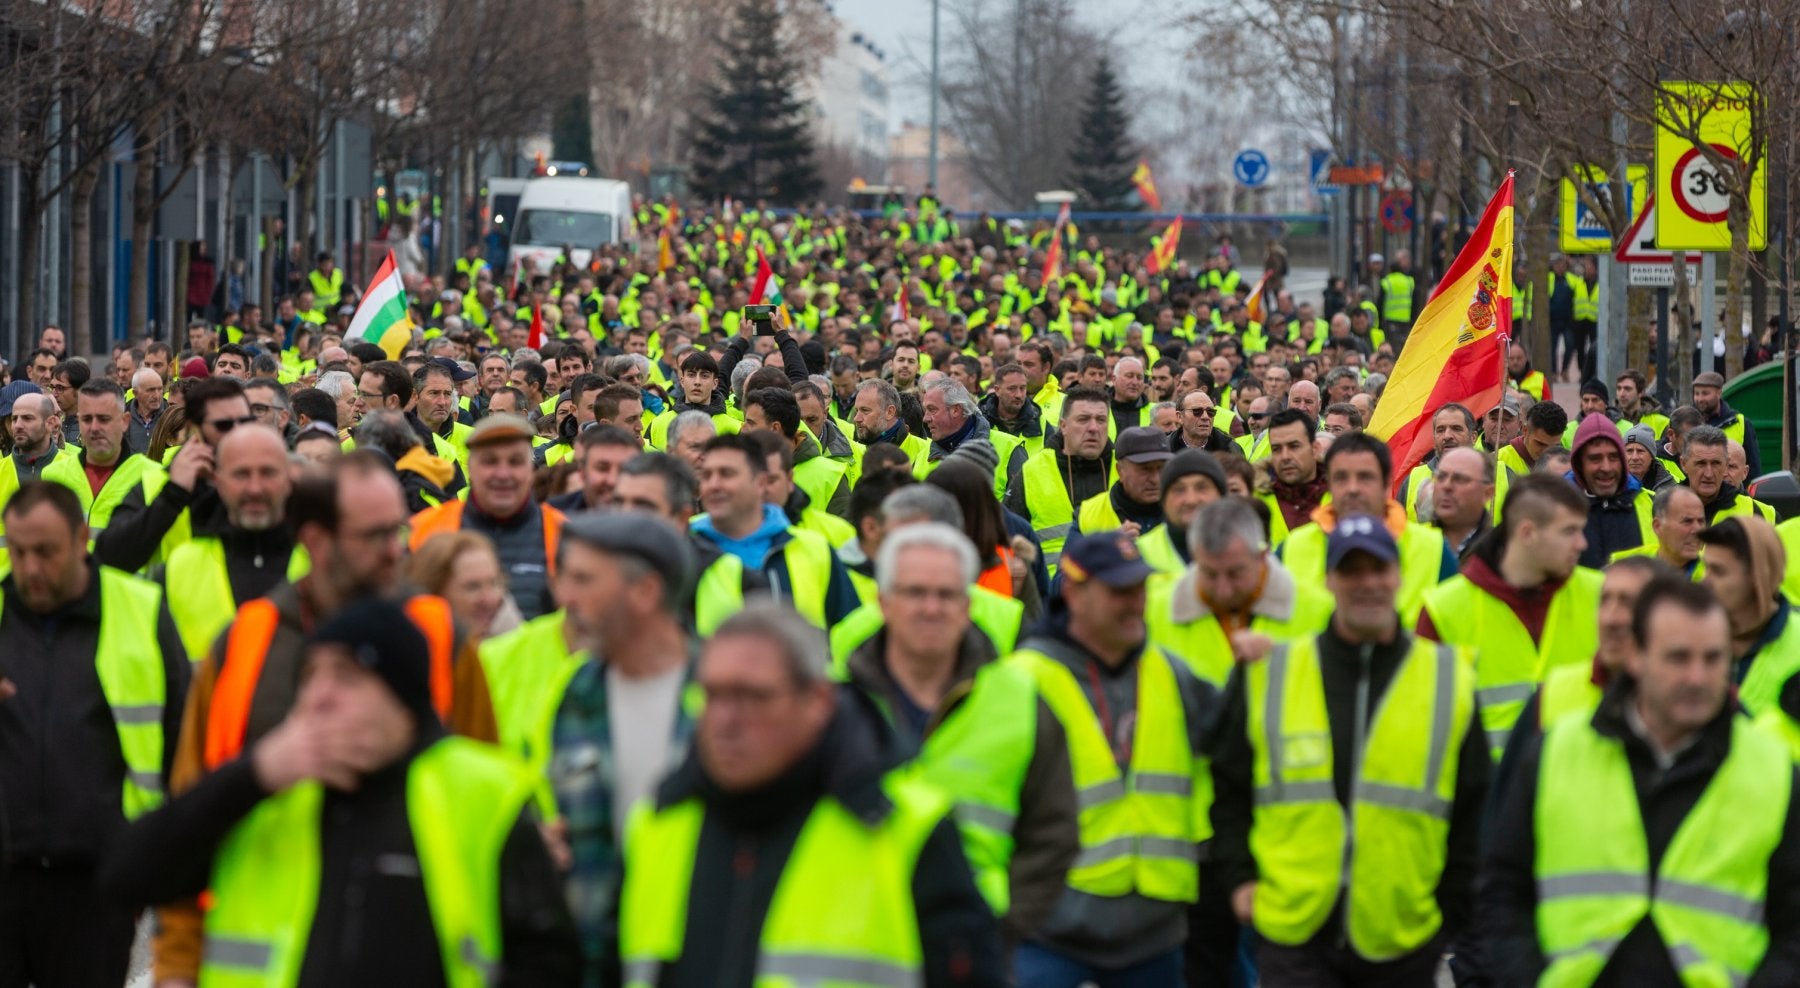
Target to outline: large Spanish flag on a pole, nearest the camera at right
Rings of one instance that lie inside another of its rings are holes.
[[[1512,338],[1512,171],[1431,292],[1368,432],[1393,450],[1393,490],[1431,454],[1431,416],[1449,401],[1476,416],[1505,394]]]

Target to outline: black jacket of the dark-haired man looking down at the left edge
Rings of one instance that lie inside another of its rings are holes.
[[[0,675],[18,695],[0,704],[0,851],[5,864],[94,867],[124,830],[124,754],[101,691],[95,653],[101,587],[52,614],[34,614],[7,576],[0,583]],[[162,648],[162,776],[175,759],[189,664],[167,603]]]

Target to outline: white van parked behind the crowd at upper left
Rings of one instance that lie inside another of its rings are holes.
[[[632,187],[610,178],[533,178],[511,227],[509,265],[529,257],[544,274],[569,248],[569,259],[585,266],[594,247],[637,236]]]

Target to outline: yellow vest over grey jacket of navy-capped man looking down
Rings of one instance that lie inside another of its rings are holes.
[[[1091,896],[1136,893],[1195,902],[1197,844],[1211,837],[1213,777],[1210,761],[1195,756],[1188,741],[1174,660],[1157,648],[1138,659],[1138,729],[1130,765],[1121,772],[1082,684],[1069,666],[1039,648],[1057,646],[1026,642],[1006,662],[1037,682],[1069,741],[1082,830],[1069,887]]]

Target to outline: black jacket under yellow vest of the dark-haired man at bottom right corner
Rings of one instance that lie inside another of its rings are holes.
[[[1651,871],[1661,862],[1669,840],[1687,819],[1701,792],[1712,783],[1732,750],[1732,718],[1737,704],[1726,704],[1699,740],[1676,756],[1667,770],[1658,770],[1649,745],[1625,722],[1625,709],[1636,702],[1636,682],[1618,677],[1593,714],[1593,729],[1625,745],[1631,781],[1643,815]],[[1487,835],[1481,857],[1480,934],[1481,957],[1494,984],[1532,984],[1544,970],[1537,947],[1537,772],[1543,734],[1528,732],[1517,752],[1516,779],[1507,785],[1499,810]],[[1764,921],[1769,952],[1750,979],[1753,986],[1800,984],[1800,803],[1787,803],[1782,839],[1769,858],[1769,891]],[[1669,945],[1649,918],[1638,921],[1613,950],[1611,961],[1595,981],[1600,988],[1638,988],[1643,984],[1679,984],[1669,959]]]

